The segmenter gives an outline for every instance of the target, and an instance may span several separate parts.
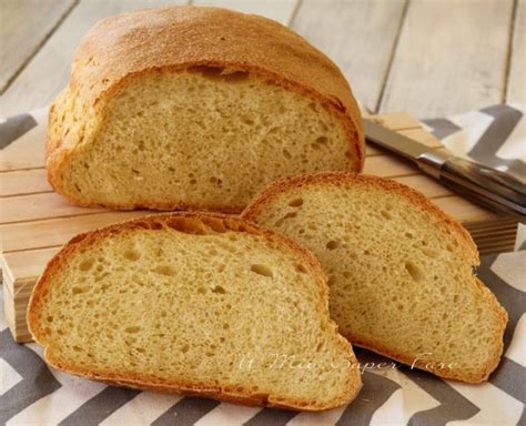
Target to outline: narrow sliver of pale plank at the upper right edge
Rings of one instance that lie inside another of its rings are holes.
[[[526,103],[526,0],[518,0],[512,40],[506,102]]]

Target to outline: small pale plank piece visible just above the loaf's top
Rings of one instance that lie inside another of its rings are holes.
[[[214,6],[254,13],[287,26],[300,0],[193,0],[195,6]]]

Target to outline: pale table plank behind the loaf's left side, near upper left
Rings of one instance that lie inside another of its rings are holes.
[[[14,115],[49,104],[68,83],[79,41],[102,18],[135,9],[182,3],[185,0],[80,0],[3,93],[2,115]]]

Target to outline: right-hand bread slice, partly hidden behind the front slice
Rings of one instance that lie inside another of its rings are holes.
[[[353,344],[469,383],[503,352],[505,310],[477,280],[466,230],[394,181],[320,173],[270,185],[243,213],[310,248]]]

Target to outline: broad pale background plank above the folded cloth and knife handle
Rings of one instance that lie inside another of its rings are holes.
[[[512,8],[513,0],[409,2],[380,111],[432,118],[499,103]]]

